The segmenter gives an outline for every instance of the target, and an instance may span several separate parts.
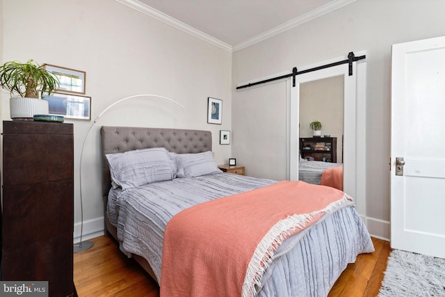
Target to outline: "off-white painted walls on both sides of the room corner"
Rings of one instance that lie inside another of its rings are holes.
[[[85,70],[93,119],[118,99],[140,93],[186,106],[182,111],[156,99],[129,100],[93,127],[83,155],[84,234],[102,228],[100,125],[210,129],[218,163],[235,157],[248,175],[286,179],[286,81],[243,91],[236,85],[366,50],[366,217],[371,233],[389,238],[391,45],[444,35],[445,1],[357,0],[233,55],[114,0],[1,3],[2,63],[33,58]],[[1,97],[1,120],[9,120],[8,95]],[[223,99],[223,125],[207,124],[207,97]],[[79,154],[92,122],[67,122],[74,124],[78,235]],[[232,145],[218,145],[220,129],[232,130]]]

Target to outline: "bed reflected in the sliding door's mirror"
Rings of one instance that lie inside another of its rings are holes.
[[[298,179],[309,184],[321,184],[343,190],[343,164],[300,158]]]

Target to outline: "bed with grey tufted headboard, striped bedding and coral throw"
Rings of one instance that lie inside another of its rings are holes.
[[[106,230],[161,284],[161,296],[184,296],[186,287],[187,296],[326,296],[348,263],[373,252],[343,192],[220,172],[209,131],[102,127],[101,134]],[[190,234],[199,245],[183,243]],[[223,247],[216,239],[230,240]],[[209,293],[215,287],[223,289]]]

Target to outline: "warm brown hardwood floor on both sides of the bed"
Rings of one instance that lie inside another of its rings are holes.
[[[74,284],[79,297],[159,297],[158,284],[133,260],[125,257],[111,237],[92,239],[95,245],[74,254]],[[374,239],[375,252],[359,255],[332,287],[329,296],[376,296],[387,266],[389,242]]]

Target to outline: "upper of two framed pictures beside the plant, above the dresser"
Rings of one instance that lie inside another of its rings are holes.
[[[60,82],[60,92],[85,94],[85,71],[50,64],[43,64],[43,68],[58,78]]]

